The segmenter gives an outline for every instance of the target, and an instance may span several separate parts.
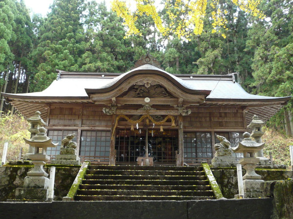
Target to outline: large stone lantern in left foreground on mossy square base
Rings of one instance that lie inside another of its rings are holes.
[[[52,139],[45,135],[45,128],[41,127],[38,131],[39,133],[31,139],[24,138],[25,143],[35,147],[35,153],[28,156],[34,167],[24,178],[23,188],[16,189],[18,200],[47,201],[48,199],[49,179],[48,174],[43,170],[43,164],[50,160],[50,157],[46,155],[47,147],[56,147],[58,143],[53,144]]]

